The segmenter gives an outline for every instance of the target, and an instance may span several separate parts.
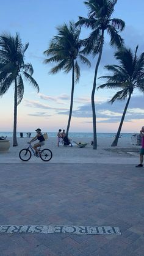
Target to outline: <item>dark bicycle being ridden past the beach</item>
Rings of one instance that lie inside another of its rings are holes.
[[[38,149],[38,153],[40,153],[40,158],[41,160],[48,162],[51,160],[52,158],[52,152],[50,149],[48,148],[44,148],[43,150],[40,150],[41,146]],[[31,149],[31,150],[30,150]],[[31,152],[32,151],[32,152]],[[35,154],[35,150],[34,148],[32,148],[31,143],[29,143],[29,147],[27,148],[23,148],[20,153],[19,153],[19,157],[22,161],[29,161],[29,159],[31,159],[32,153],[34,153],[34,156],[37,156]],[[38,157],[39,157],[38,156]]]

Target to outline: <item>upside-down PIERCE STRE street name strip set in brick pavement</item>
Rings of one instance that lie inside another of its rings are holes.
[[[121,235],[118,227],[95,225],[0,225],[0,234]]]

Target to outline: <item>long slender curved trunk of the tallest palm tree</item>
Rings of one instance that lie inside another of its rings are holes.
[[[97,149],[95,89],[96,89],[96,77],[97,77],[97,73],[98,73],[99,62],[101,61],[101,55],[103,52],[103,40],[104,40],[104,31],[102,31],[102,35],[101,35],[101,46],[99,49],[98,61],[96,63],[96,67],[95,67],[95,76],[94,76],[94,80],[93,80],[93,90],[92,90],[92,96],[91,96],[92,112],[93,112],[93,149]]]

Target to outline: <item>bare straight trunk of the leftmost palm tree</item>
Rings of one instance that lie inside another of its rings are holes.
[[[15,95],[14,95],[14,121],[13,121],[13,147],[18,145],[16,139],[16,120],[17,120],[17,82],[15,79]]]

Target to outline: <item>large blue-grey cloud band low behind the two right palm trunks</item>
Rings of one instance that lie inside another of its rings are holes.
[[[107,101],[103,103],[96,103],[95,104],[96,120],[101,123],[120,122],[125,105],[126,105],[126,101],[117,101],[113,104],[110,104]],[[69,111],[60,111],[58,112],[58,114],[68,115]],[[78,117],[78,118],[92,117],[91,104],[84,104],[83,106],[79,106],[79,108],[77,108],[76,110],[73,110],[72,115],[73,117]],[[131,122],[134,119],[144,119],[143,95],[132,97],[129,103],[129,108],[128,108],[128,111],[126,112],[126,116],[124,120],[127,122]]]

